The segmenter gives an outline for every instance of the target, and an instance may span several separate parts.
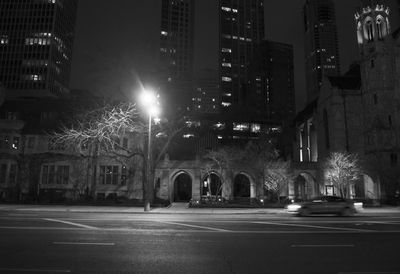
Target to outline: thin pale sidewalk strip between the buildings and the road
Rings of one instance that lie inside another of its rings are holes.
[[[120,206],[68,206],[68,205],[7,205],[0,204],[1,211],[15,212],[86,212],[86,213],[134,213],[134,214],[282,214],[283,208],[188,208],[184,205],[172,205],[164,208],[152,208],[144,212],[143,207]],[[400,207],[367,207],[360,213],[383,214],[400,213]]]

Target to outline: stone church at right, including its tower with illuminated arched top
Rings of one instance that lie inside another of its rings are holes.
[[[332,152],[356,154],[362,176],[348,185],[349,196],[390,203],[400,189],[400,52],[389,14],[383,1],[363,1],[355,14],[359,59],[344,75],[325,77],[318,99],[297,116],[294,160],[321,164]],[[321,192],[335,193],[317,170]]]

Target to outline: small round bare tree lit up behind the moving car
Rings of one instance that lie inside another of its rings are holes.
[[[347,152],[332,152],[323,162],[326,177],[339,190],[340,196],[348,198],[349,187],[361,176],[358,156]]]

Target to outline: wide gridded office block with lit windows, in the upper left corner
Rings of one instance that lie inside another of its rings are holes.
[[[0,0],[0,82],[6,96],[68,93],[78,0]]]

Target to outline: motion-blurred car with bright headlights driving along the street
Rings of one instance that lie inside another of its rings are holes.
[[[362,203],[337,196],[319,196],[309,201],[292,203],[287,206],[289,213],[300,216],[311,214],[338,214],[352,216],[362,209]]]

